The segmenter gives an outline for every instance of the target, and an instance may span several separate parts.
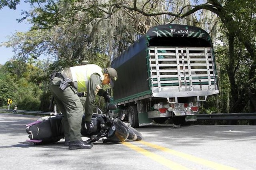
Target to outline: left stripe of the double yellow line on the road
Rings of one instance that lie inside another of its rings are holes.
[[[145,156],[148,156],[149,158],[159,162],[160,164],[163,164],[164,166],[167,166],[168,168],[170,168],[172,170],[190,170],[189,168],[186,168],[185,166],[182,166],[182,165],[180,165],[176,162],[173,162],[171,160],[168,160],[162,156],[159,156],[157,154],[149,152],[148,150],[137,147],[136,145],[132,145],[128,142],[123,142],[122,144],[125,145],[126,147],[129,147],[130,149],[136,150],[137,152],[144,154]]]

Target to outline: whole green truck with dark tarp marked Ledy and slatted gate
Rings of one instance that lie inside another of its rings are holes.
[[[113,102],[132,127],[195,121],[200,102],[218,94],[210,35],[189,25],[152,27],[111,63]]]

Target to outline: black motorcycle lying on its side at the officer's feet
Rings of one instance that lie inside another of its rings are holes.
[[[82,137],[88,137],[87,143],[96,142],[100,139],[103,143],[120,143],[123,141],[139,141],[142,134],[124,123],[122,118],[111,117],[111,112],[117,109],[116,105],[106,103],[105,112],[97,108],[97,113],[92,114],[90,132],[86,129],[84,116],[82,119]],[[100,113],[98,113],[100,112]],[[26,132],[29,134],[27,141],[37,144],[56,143],[64,138],[63,115],[41,117],[37,121],[26,125]]]

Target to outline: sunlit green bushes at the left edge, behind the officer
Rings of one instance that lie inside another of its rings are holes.
[[[20,66],[22,69],[18,68]],[[48,111],[46,105],[50,95],[45,95],[47,86],[43,85],[42,68],[13,60],[6,62],[0,70],[0,107],[8,108],[7,100],[12,99],[11,109],[17,105],[21,110]],[[46,100],[42,100],[42,94]]]

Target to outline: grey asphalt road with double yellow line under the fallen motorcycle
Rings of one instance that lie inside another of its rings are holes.
[[[142,141],[68,150],[63,140],[26,141],[25,125],[37,118],[0,113],[0,170],[256,169],[256,126],[152,125],[138,128]]]

